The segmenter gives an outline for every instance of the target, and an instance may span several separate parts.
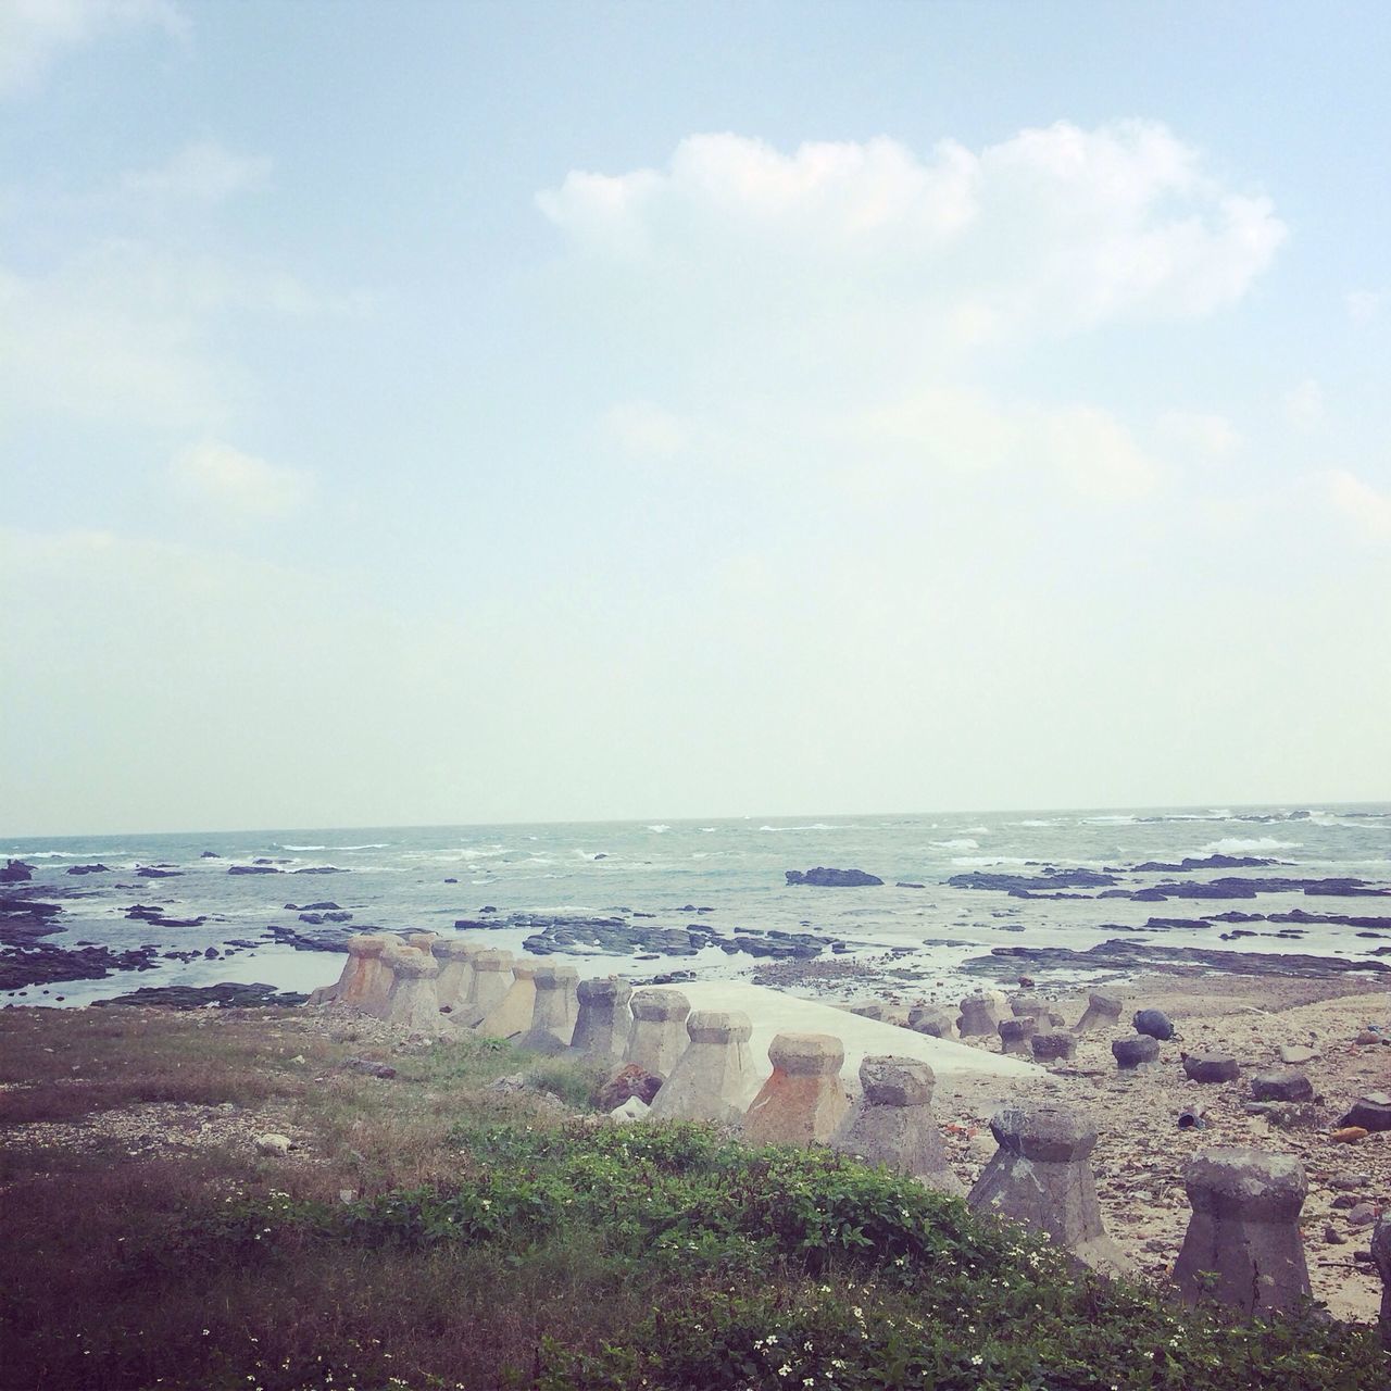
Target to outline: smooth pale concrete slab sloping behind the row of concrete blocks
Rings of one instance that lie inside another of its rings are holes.
[[[772,1072],[768,1045],[775,1034],[835,1034],[846,1045],[843,1077],[854,1085],[867,1054],[892,1053],[915,1057],[932,1066],[938,1081],[951,1077],[1047,1077],[1047,1070],[1020,1057],[986,1053],[983,1049],[951,1039],[901,1029],[896,1024],[867,1020],[833,1004],[801,1000],[783,990],[771,990],[746,981],[683,981],[677,989],[691,1002],[693,1010],[743,1010],[753,1021],[748,1040],[754,1070],[759,1077]]]

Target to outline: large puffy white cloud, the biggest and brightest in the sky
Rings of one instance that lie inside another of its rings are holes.
[[[1239,299],[1285,236],[1266,198],[1224,188],[1145,121],[926,157],[890,139],[783,154],[693,135],[665,170],[572,171],[537,203],[577,248],[643,268],[644,289],[733,284],[747,300],[794,277],[782,303],[882,302],[968,342],[1202,316]]]

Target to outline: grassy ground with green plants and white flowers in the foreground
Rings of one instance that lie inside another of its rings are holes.
[[[6,1388],[1387,1384],[1367,1330],[1188,1313],[829,1153],[612,1127],[574,1110],[594,1078],[568,1063],[467,1040],[381,1081],[342,1067],[380,1047],[306,1017],[150,1018],[0,1015],[0,1077],[38,1078],[0,1092],[25,1118],[0,1189]],[[517,1072],[533,1085],[488,1086]],[[174,1074],[196,1106],[168,1110],[253,1107],[302,1150],[132,1155],[103,1107],[142,1078],[168,1100]],[[104,1089],[74,1110],[85,1075]],[[85,1120],[26,1145],[45,1114]]]

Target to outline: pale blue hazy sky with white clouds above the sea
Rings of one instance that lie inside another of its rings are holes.
[[[1391,798],[1388,67],[0,0],[0,833]]]

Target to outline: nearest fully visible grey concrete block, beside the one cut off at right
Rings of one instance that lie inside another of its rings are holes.
[[[1299,1237],[1309,1182],[1298,1159],[1235,1145],[1203,1149],[1188,1161],[1184,1188],[1193,1212],[1174,1280],[1187,1303],[1210,1296],[1252,1314],[1309,1298]]]

